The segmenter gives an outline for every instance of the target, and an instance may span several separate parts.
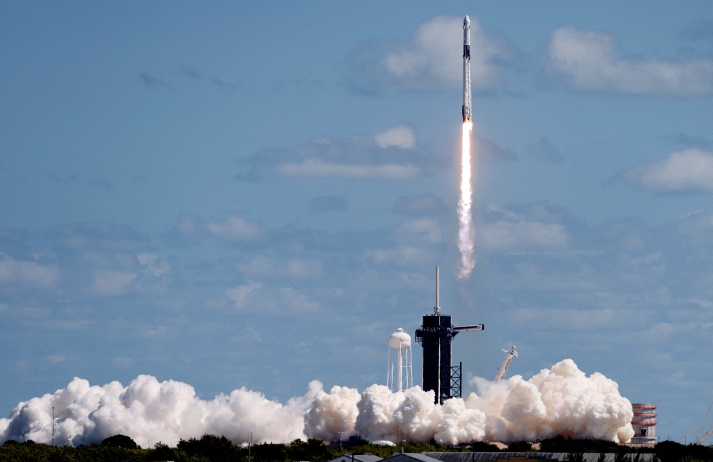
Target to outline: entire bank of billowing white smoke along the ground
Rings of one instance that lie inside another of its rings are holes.
[[[357,432],[369,441],[441,444],[534,441],[557,434],[625,442],[634,435],[631,403],[617,384],[597,372],[586,376],[571,359],[528,381],[513,376],[499,384],[475,382],[478,394],[439,405],[433,391],[419,386],[393,393],[374,384],[361,394],[334,386],[327,393],[312,381],[306,394],[283,405],[245,388],[205,401],[188,384],[152,376],[138,376],[128,386],[116,381],[90,386],[75,378],[66,389],[21,402],[8,419],[0,419],[0,443],[50,443],[53,406],[58,446],[98,443],[116,434],[144,447],[159,441],[175,445],[205,433],[238,444],[250,441],[249,432],[255,443],[339,441]]]

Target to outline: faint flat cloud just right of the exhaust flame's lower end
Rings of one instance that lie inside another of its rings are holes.
[[[486,223],[478,228],[476,242],[488,249],[515,250],[527,247],[565,247],[569,236],[565,227],[553,223]]]

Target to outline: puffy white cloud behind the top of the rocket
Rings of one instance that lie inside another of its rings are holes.
[[[434,90],[463,85],[463,18],[438,16],[421,24],[411,41],[387,47],[377,72],[392,86]],[[477,18],[471,18],[471,86],[498,83],[496,63],[506,50],[489,37]]]

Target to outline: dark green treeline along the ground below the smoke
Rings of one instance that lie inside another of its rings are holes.
[[[405,444],[407,453],[421,452],[528,452],[535,449],[530,443],[520,441],[500,450],[491,443],[472,443],[470,446],[440,446],[431,443]],[[128,436],[116,435],[106,438],[101,444],[89,446],[53,447],[43,443],[6,441],[0,446],[0,462],[323,462],[346,453],[372,453],[386,458],[401,445],[374,445],[369,441],[356,440],[342,448],[329,448],[322,441],[295,440],[289,444],[262,443],[247,447],[233,444],[225,436],[204,435],[201,438],[181,440],[175,447],[157,443],[153,448],[140,448]],[[570,453],[565,462],[581,462],[584,453],[617,453],[615,462],[635,462],[632,453],[654,453],[660,462],[713,462],[713,448],[694,444],[682,445],[674,441],[662,441],[654,448],[633,448],[612,441],[571,439],[556,436],[540,441],[541,453]]]

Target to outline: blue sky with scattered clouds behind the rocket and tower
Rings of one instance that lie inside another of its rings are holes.
[[[435,265],[486,324],[466,374],[572,358],[672,438],[713,400],[707,1],[1,1],[0,63],[4,414],[73,376],[383,383]]]

